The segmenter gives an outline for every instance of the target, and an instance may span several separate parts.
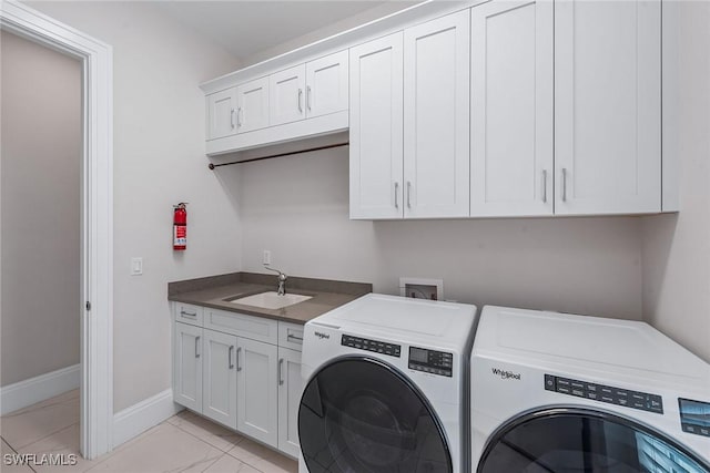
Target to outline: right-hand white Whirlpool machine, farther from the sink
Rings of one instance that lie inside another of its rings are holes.
[[[647,323],[485,307],[477,473],[710,472],[710,366]]]

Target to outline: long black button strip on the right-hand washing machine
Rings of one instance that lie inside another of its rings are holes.
[[[658,394],[631,391],[629,389],[615,388],[598,384],[596,382],[579,381],[570,378],[561,378],[545,374],[545,389],[577,398],[594,399],[609,404],[623,405],[625,408],[639,409],[641,411],[663,413],[663,400]]]

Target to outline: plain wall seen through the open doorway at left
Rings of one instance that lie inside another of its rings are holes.
[[[1,33],[2,378],[79,363],[81,64]]]

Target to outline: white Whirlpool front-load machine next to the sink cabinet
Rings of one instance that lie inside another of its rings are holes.
[[[305,325],[300,473],[463,473],[476,307],[367,295]]]

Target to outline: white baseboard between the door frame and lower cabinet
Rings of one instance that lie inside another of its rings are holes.
[[[113,449],[182,411],[173,402],[173,390],[148,398],[113,414]]]

